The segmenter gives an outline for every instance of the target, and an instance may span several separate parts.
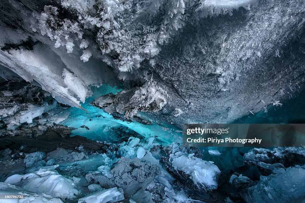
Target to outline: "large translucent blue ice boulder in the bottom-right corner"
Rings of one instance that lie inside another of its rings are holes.
[[[287,168],[284,173],[261,176],[260,181],[240,192],[246,202],[304,202],[305,167]]]

